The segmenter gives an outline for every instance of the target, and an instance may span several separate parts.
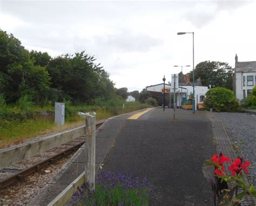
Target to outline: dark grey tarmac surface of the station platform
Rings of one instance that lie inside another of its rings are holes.
[[[201,171],[214,153],[211,123],[205,112],[177,109],[176,120],[172,112],[154,108],[125,120],[103,170],[146,177],[153,185],[152,205],[212,205]]]

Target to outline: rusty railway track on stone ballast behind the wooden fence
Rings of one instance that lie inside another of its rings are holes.
[[[103,122],[97,123],[96,129],[102,124]],[[26,194],[26,190],[31,189],[31,180],[33,180],[32,185],[37,185],[35,180],[41,180],[41,183],[38,183],[40,187],[36,190],[41,189],[43,187],[41,184],[46,184],[50,176],[56,174],[84,142],[85,136],[81,136],[63,145],[52,148],[41,155],[31,157],[9,168],[1,169],[0,205],[26,205],[26,202],[21,203],[11,200],[12,196],[16,194],[15,191],[17,190],[18,193],[21,192],[21,194],[27,195],[26,198],[28,199],[30,193]],[[28,184],[28,186],[26,186],[26,184]],[[30,196],[33,198],[35,195],[36,194],[32,194]]]

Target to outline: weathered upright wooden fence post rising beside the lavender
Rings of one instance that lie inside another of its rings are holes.
[[[96,146],[96,118],[85,116],[85,180],[90,190],[95,190],[95,146]]]

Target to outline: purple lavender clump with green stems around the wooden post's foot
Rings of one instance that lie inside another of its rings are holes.
[[[88,184],[78,189],[72,197],[75,205],[149,205],[152,189],[146,178],[100,171],[95,181],[95,191]]]

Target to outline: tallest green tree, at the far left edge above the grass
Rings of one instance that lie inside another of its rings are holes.
[[[6,102],[16,102],[21,92],[29,93],[33,100],[44,99],[45,102],[49,80],[45,67],[33,65],[29,51],[21,42],[0,30],[0,93]]]

